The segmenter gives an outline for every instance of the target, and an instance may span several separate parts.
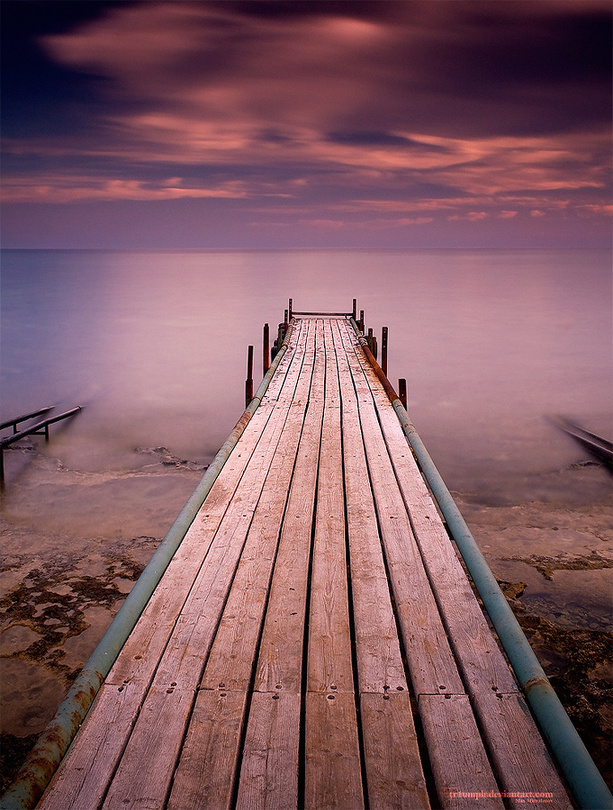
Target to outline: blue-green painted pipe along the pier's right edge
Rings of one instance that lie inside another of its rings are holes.
[[[351,321],[366,356],[377,375],[381,377],[383,372],[369,351],[366,339],[361,335],[355,320],[352,318]],[[384,387],[398,415],[402,430],[447,522],[451,536],[466,563],[540,729],[547,739],[579,807],[585,810],[609,810],[613,807],[611,791],[549,683],[528,639],[500,590],[495,576],[411,422],[409,414],[387,378],[385,378],[385,383]]]

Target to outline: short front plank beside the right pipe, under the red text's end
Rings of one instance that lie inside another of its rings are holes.
[[[524,697],[484,691],[477,715],[509,806],[523,808],[529,796],[552,810],[569,810],[572,804]]]

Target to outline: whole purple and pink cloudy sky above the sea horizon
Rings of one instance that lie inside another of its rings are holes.
[[[2,0],[6,248],[611,244],[609,0]]]

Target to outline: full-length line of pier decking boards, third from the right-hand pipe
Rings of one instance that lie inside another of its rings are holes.
[[[346,350],[334,330],[353,620],[371,810],[429,807]],[[366,694],[378,693],[378,694]]]

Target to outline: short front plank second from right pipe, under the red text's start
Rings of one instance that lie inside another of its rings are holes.
[[[500,788],[468,696],[421,695],[419,713],[440,806],[444,810],[502,810]]]

